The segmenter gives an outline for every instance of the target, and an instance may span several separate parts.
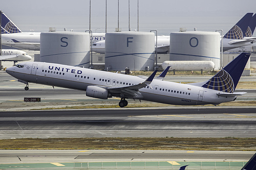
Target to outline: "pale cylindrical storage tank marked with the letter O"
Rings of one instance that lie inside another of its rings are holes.
[[[171,61],[212,61],[220,69],[220,33],[188,31],[170,33]]]

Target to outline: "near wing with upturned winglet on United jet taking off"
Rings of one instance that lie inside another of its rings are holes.
[[[120,95],[122,98],[134,98],[134,99],[141,99],[143,96],[139,92],[140,88],[149,86],[152,88],[150,85],[151,82],[153,81],[155,75],[157,73],[157,70],[153,72],[153,74],[148,77],[144,82],[136,84],[136,85],[131,85],[131,86],[124,86],[124,87],[118,87],[118,88],[107,88],[112,94],[117,94],[118,96]]]

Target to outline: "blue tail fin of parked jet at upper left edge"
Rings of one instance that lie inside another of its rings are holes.
[[[2,34],[20,33],[22,31],[2,12]]]

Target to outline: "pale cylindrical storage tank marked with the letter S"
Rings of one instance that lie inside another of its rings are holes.
[[[40,61],[89,68],[90,34],[66,31],[41,33]]]

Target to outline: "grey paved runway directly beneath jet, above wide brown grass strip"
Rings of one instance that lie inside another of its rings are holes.
[[[0,112],[0,139],[256,137],[256,109],[84,109]]]

